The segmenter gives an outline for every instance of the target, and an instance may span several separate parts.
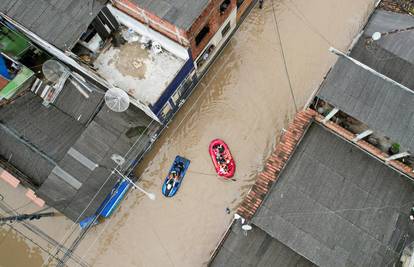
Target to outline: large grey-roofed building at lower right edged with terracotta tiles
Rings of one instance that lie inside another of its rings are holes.
[[[414,241],[408,172],[313,110],[297,115],[210,266],[389,266]],[[367,153],[369,152],[369,153]],[[241,229],[242,225],[251,230]]]

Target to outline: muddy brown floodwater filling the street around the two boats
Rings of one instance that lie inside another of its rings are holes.
[[[226,231],[295,105],[302,107],[373,10],[373,0],[265,1],[234,35],[194,94],[137,170],[151,201],[132,191],[76,253],[93,266],[202,266]],[[274,11],[274,12],[273,12]],[[222,138],[237,163],[236,181],[215,175],[208,144]],[[177,195],[161,185],[176,155],[191,160]],[[231,214],[226,213],[230,208]]]

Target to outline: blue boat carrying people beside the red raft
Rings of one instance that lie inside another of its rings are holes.
[[[162,185],[162,194],[164,196],[172,197],[177,193],[189,166],[190,160],[181,156],[175,157],[174,163]]]

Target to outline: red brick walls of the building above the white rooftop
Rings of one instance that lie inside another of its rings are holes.
[[[248,0],[246,0],[248,1]],[[197,58],[205,48],[213,35],[228,18],[231,11],[236,8],[236,0],[230,0],[230,5],[224,13],[220,13],[220,5],[223,0],[211,0],[201,15],[194,21],[188,31],[179,29],[168,21],[140,8],[130,0],[115,0],[115,6],[142,23],[149,25],[152,29],[162,33],[170,39],[191,48],[193,59]],[[205,26],[209,26],[209,32],[203,40],[196,45],[195,37]]]

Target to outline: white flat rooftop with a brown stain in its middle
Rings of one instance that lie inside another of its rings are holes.
[[[129,41],[120,47],[104,49],[94,64],[98,73],[112,85],[136,100],[153,105],[185,61],[165,49],[157,54],[145,48],[141,43],[143,37],[136,32],[125,28],[123,35]]]

